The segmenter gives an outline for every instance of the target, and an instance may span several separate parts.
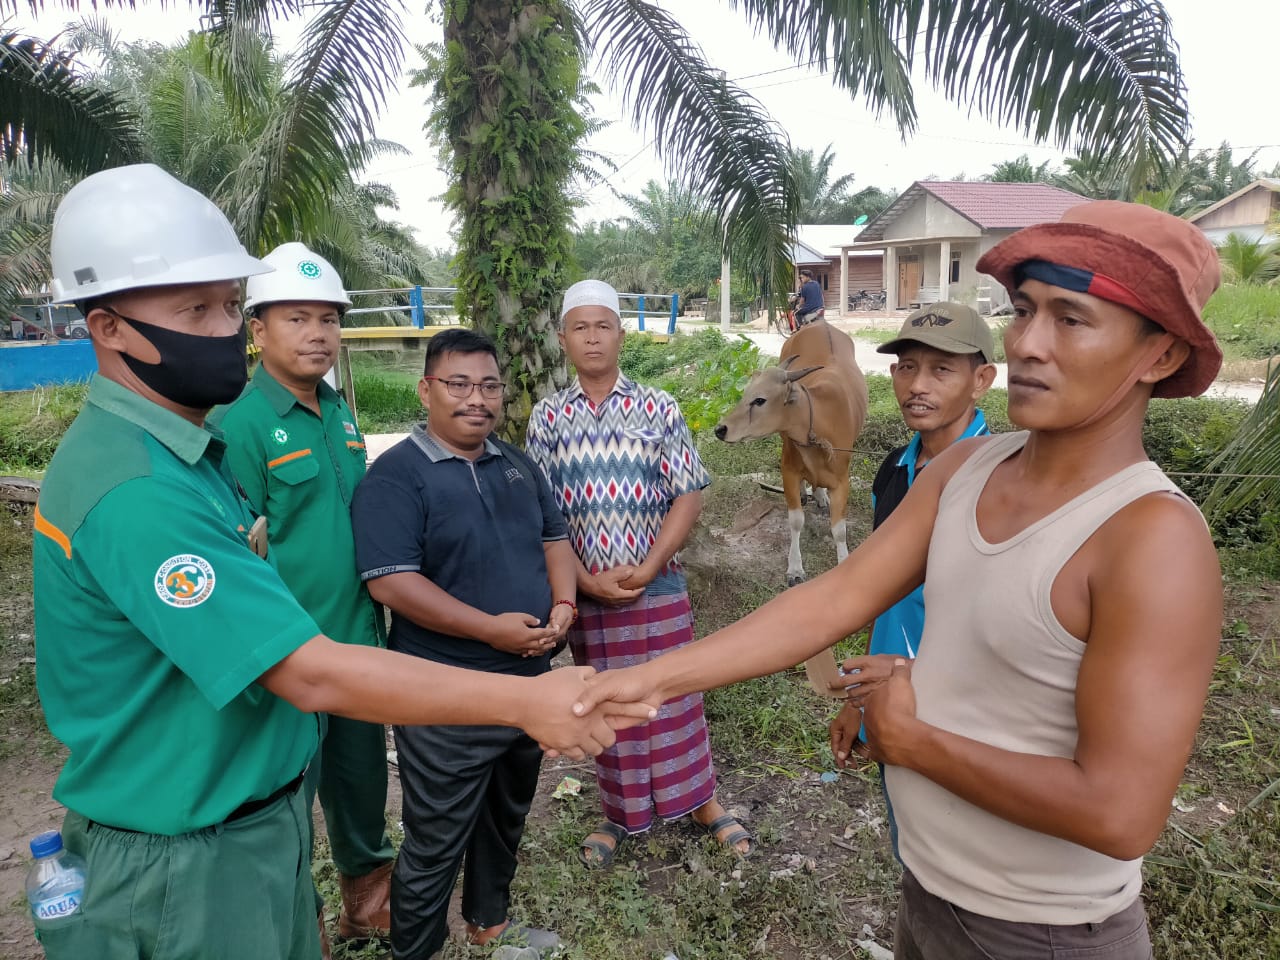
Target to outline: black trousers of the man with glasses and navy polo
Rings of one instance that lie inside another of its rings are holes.
[[[394,727],[404,842],[392,874],[392,956],[426,960],[448,937],[449,896],[466,860],[462,916],[507,919],[516,847],[543,751],[507,727]]]

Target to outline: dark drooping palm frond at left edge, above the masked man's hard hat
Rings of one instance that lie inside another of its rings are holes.
[[[0,35],[0,155],[55,159],[81,174],[142,156],[137,118],[86,82],[70,54],[14,32]]]

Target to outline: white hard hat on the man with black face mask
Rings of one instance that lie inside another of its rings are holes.
[[[72,187],[54,214],[54,302],[270,270],[207,197],[155,164],[116,166]]]

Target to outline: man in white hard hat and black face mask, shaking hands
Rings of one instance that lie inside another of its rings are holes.
[[[315,960],[311,714],[499,723],[577,755],[626,719],[575,718],[588,671],[443,667],[334,643],[302,609],[205,426],[246,381],[241,278],[270,269],[209,200],[150,164],[105,170],[68,191],[51,247],[99,374],[35,515],[37,685],[68,749],[54,796],[87,861],[41,945]]]

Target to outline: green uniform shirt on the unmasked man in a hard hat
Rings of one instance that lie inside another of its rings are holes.
[[[385,639],[380,611],[356,571],[351,497],[365,475],[365,439],[342,397],[321,381],[320,416],[264,366],[244,393],[210,417],[253,509],[266,517],[280,579],[326,636]]]

